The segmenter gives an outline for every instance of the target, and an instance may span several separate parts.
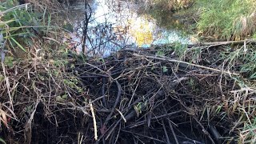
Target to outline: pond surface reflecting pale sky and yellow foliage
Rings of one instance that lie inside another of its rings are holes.
[[[82,50],[82,42],[86,43],[86,54],[108,56],[112,51],[127,46],[149,47],[151,44],[171,42],[190,43],[189,38],[182,37],[176,30],[166,30],[157,26],[157,22],[149,14],[138,15],[140,4],[133,2],[94,0],[86,9],[84,2],[76,2],[71,6],[75,33],[72,38],[78,42],[78,51]],[[86,11],[87,10],[87,11]],[[91,18],[86,27],[86,38],[83,30],[85,15]],[[84,41],[83,41],[84,40]]]

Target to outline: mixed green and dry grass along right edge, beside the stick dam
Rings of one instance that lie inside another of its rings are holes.
[[[226,52],[225,52],[226,53]],[[240,76],[232,77],[238,90],[230,90],[230,114],[236,114],[234,130],[238,130],[235,138],[237,143],[256,142],[256,118],[255,110],[255,79],[256,79],[256,50],[254,45],[236,46],[229,48],[227,54],[222,53],[221,58],[226,64],[226,69],[237,71]],[[232,92],[233,91],[233,92]]]

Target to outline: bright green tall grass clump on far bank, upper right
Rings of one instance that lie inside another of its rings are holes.
[[[255,32],[254,0],[197,0],[194,6],[200,11],[197,27],[203,34],[239,40]]]

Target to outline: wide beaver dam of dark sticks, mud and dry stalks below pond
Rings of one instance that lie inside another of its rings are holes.
[[[7,71],[10,86],[26,86],[15,87],[17,117],[2,134],[10,142],[30,143],[232,142],[241,117],[236,107],[248,106],[255,95],[238,85],[239,65],[219,58],[229,50],[193,46],[179,57],[174,46],[156,46],[85,61],[70,55],[65,70],[82,83],[66,75],[42,79],[49,75],[42,68],[52,71],[50,66],[28,70],[32,63],[22,62]]]

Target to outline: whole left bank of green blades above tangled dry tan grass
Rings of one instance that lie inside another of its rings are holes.
[[[58,29],[58,21],[55,22],[58,19],[57,10],[53,12],[54,6],[47,4],[52,1],[35,3],[37,1],[31,0],[30,4],[18,5],[16,0],[0,0],[0,123],[4,124],[0,124],[2,143],[31,142],[34,114],[28,111],[24,119],[24,110],[30,108],[36,111],[38,102],[45,106],[48,102],[65,101],[68,99],[66,94],[81,91],[76,77],[66,73],[68,61],[64,54],[67,46],[62,43],[63,30]],[[39,4],[44,2],[47,5]],[[7,118],[10,118],[8,123]],[[24,121],[19,121],[21,119]],[[14,137],[16,132],[10,136],[3,128],[12,128],[12,122],[16,121],[20,124],[15,126],[15,130],[19,129],[25,140],[17,138],[18,142],[13,142],[11,140],[16,141],[16,138],[10,137]]]

